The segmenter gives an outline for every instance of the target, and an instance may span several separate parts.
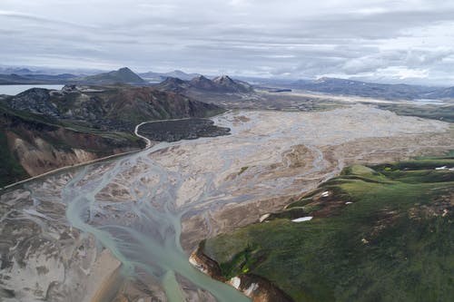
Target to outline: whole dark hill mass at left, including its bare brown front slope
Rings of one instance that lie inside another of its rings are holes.
[[[222,108],[152,87],[34,88],[0,98],[0,185],[143,146],[140,122],[208,117]]]

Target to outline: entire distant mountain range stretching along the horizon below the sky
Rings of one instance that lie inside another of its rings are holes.
[[[0,74],[0,84],[132,84],[136,86],[154,85],[163,91],[174,93],[252,93],[252,85],[232,79],[227,75],[209,79],[198,73],[133,73],[127,67],[108,73],[80,76],[73,73],[44,74],[26,68],[1,69],[15,73]],[[157,83],[157,84],[156,84]],[[295,82],[262,80],[256,85],[262,88],[281,88],[317,93],[357,95],[388,100],[414,99],[453,99],[454,87],[430,87],[409,84],[368,83],[361,81],[323,77],[318,80],[299,80]]]

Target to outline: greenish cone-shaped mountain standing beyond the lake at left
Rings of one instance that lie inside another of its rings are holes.
[[[81,83],[98,83],[98,84],[114,84],[114,83],[130,83],[130,84],[145,84],[146,81],[140,76],[133,73],[127,67],[120,68],[117,71],[109,73],[99,73],[84,78],[78,79]]]

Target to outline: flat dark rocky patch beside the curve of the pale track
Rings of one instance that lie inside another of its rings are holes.
[[[218,127],[208,119],[151,122],[140,128],[140,133],[152,141],[193,140],[200,137],[228,135],[229,128]]]

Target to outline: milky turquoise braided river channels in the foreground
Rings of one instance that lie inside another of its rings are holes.
[[[114,161],[113,167],[99,174],[93,173],[99,164],[80,170],[62,191],[67,219],[75,228],[93,234],[122,261],[123,271],[129,277],[136,278],[145,273],[160,282],[169,301],[183,301],[176,275],[208,290],[219,301],[250,301],[233,287],[209,278],[189,263],[179,237],[181,218],[190,209],[177,209],[173,204],[174,192],[183,180],[149,158],[151,152],[163,146]],[[130,175],[136,186],[133,189],[141,198],[112,203],[96,199],[105,186],[135,165],[147,167],[143,172]],[[143,186],[140,180],[151,175],[159,175],[158,185]],[[90,180],[86,181],[88,177]],[[134,219],[123,219],[126,213],[132,213]],[[91,223],[96,220],[95,214],[103,217],[103,222]]]

